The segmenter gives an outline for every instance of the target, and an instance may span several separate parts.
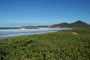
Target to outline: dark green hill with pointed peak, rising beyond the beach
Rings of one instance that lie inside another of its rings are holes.
[[[83,27],[90,27],[90,25],[87,24],[86,22],[83,22],[83,21],[78,20],[78,21],[73,22],[73,23],[70,23],[70,24],[69,23],[66,23],[66,22],[65,23],[60,23],[60,24],[54,24],[51,27],[83,28]]]

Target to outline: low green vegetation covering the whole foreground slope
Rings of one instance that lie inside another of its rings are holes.
[[[90,60],[90,28],[0,40],[0,60]]]

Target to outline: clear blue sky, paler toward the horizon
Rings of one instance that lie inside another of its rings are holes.
[[[90,0],[0,0],[0,27],[90,23]]]

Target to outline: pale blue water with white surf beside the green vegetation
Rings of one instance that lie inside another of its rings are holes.
[[[0,29],[0,38],[56,32],[65,28]]]

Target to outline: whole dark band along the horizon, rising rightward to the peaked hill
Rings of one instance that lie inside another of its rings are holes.
[[[38,28],[85,28],[90,27],[90,24],[83,22],[81,20],[77,20],[73,23],[60,23],[60,24],[52,24],[52,25],[44,25],[44,26],[21,26],[21,27],[0,27],[0,29],[38,29]]]

